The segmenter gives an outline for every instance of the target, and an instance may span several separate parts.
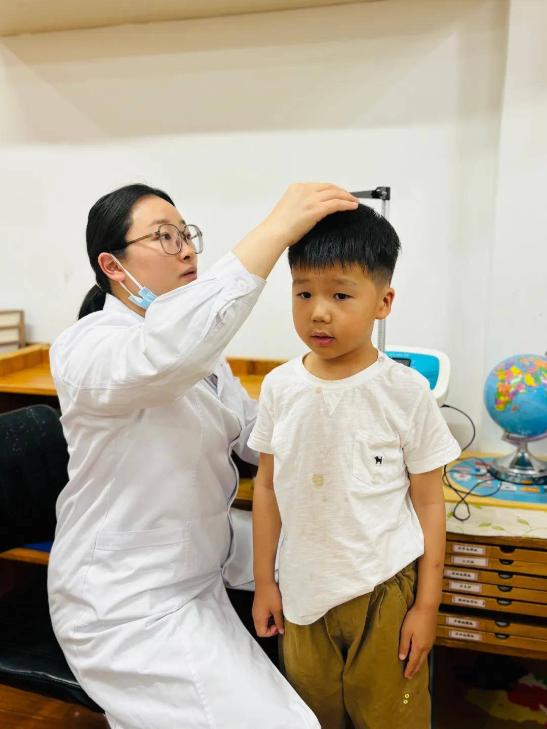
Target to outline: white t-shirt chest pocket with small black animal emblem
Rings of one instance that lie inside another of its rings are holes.
[[[374,488],[393,480],[403,469],[403,451],[398,435],[385,436],[366,430],[355,432],[353,475]]]

